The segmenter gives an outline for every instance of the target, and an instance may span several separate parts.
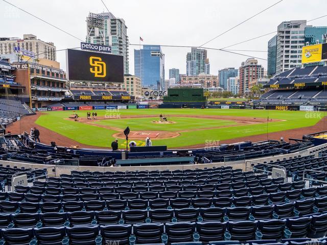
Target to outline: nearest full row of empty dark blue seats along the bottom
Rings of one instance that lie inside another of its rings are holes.
[[[166,224],[134,224],[78,227],[44,227],[3,229],[6,244],[171,244],[174,242],[205,242],[235,240],[323,237],[327,228],[319,222],[324,215],[267,220],[259,222],[198,222]],[[254,241],[253,241],[254,242]],[[217,244],[217,243],[216,243]],[[235,243],[229,243],[235,244]],[[238,243],[236,243],[238,244]],[[267,244],[267,243],[265,243]],[[318,243],[316,243],[318,244]]]

